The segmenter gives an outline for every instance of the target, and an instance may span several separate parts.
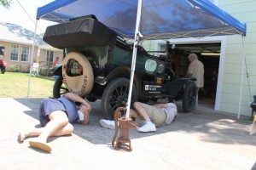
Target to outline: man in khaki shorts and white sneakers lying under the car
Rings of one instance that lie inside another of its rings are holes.
[[[130,117],[135,118],[140,127],[138,132],[154,132],[155,127],[162,127],[171,124],[177,116],[177,106],[173,103],[147,105],[141,102],[133,104],[134,109],[130,111]],[[102,119],[102,127],[114,129],[113,121]]]

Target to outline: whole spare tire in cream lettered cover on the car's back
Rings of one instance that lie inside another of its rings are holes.
[[[69,92],[85,97],[93,88],[94,75],[84,54],[71,52],[63,59],[62,77]]]

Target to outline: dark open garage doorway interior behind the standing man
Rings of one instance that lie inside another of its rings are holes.
[[[172,50],[176,77],[186,75],[189,67],[188,56],[191,53],[197,54],[204,64],[204,88],[199,91],[199,105],[211,109],[214,108],[216,98],[220,45],[220,42],[176,44]]]

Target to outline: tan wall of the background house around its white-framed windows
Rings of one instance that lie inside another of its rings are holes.
[[[30,66],[30,60],[31,60],[31,54],[32,54],[32,45],[16,43],[16,42],[3,42],[3,41],[0,41],[0,44],[5,47],[3,60],[6,61],[8,64],[8,66],[6,67],[6,71],[14,71],[14,69],[17,69],[21,72],[29,72],[29,66]],[[18,54],[17,61],[13,61],[10,59],[11,45],[19,46],[19,54]],[[28,61],[20,61],[22,46],[29,47]],[[35,46],[35,53],[33,54],[32,62],[36,60],[37,51],[38,51],[38,46]]]

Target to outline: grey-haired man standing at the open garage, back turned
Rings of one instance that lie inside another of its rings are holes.
[[[189,54],[189,69],[185,77],[187,78],[196,78],[196,97],[195,97],[195,109],[198,106],[198,91],[200,88],[204,87],[204,65],[200,60],[197,59],[196,54]]]

